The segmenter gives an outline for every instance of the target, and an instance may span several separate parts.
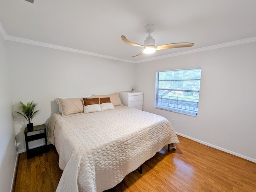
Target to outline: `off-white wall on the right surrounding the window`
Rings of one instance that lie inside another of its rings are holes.
[[[174,119],[177,133],[256,162],[255,50],[254,42],[137,64],[143,109]],[[198,117],[155,109],[155,72],[195,67],[202,67]]]

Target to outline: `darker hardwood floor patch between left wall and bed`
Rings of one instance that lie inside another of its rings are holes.
[[[14,192],[53,192],[58,186],[62,170],[58,166],[59,156],[53,145],[50,151],[27,159],[26,153],[19,155]]]

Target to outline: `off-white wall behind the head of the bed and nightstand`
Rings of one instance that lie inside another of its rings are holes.
[[[100,57],[6,41],[11,102],[38,103],[34,125],[48,123],[58,112],[54,98],[127,91],[135,84],[135,65]],[[18,151],[25,151],[24,127],[15,122]],[[30,142],[30,147],[43,143]]]

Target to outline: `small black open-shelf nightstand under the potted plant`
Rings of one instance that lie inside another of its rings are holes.
[[[42,132],[43,130],[44,130],[44,132]],[[40,131],[41,133],[28,136],[28,133],[31,133],[33,131]],[[31,131],[28,131],[28,128],[26,127],[24,130],[24,134],[25,134],[25,141],[26,141],[27,159],[29,159],[30,157],[34,157],[36,155],[40,155],[42,153],[48,152],[45,124],[34,126],[33,130],[31,130]],[[35,141],[38,139],[45,139],[45,145],[36,147],[33,149],[28,149],[28,142]]]

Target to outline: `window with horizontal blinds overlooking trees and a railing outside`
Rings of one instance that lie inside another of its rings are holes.
[[[197,116],[201,68],[156,72],[155,108]]]

